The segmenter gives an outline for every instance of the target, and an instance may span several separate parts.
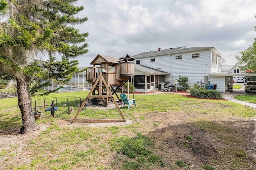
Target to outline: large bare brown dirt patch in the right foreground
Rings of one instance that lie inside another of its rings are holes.
[[[188,120],[198,118],[201,119],[202,114],[151,113],[147,115],[146,120],[160,124],[156,130],[145,133],[145,135],[155,141],[157,154],[162,156],[169,166],[172,166],[176,160],[183,160],[190,166],[190,169],[198,170],[206,164],[225,161],[226,158],[223,155],[234,157],[236,150],[232,150],[232,148],[241,148],[248,155],[245,158],[247,160],[244,160],[247,164],[245,169],[254,168],[256,154],[252,150],[256,149],[255,121],[242,117],[222,116],[220,118],[214,115],[204,115],[204,119],[209,122],[205,125],[208,125],[208,128],[204,129],[200,121],[186,123]],[[222,131],[216,132],[214,128],[220,128]],[[211,129],[213,130],[211,131]],[[193,139],[186,139],[188,135]],[[234,159],[236,158],[234,157]],[[230,164],[218,164],[214,167],[229,169],[231,164],[230,161]]]

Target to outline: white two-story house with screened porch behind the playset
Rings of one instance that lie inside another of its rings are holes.
[[[187,48],[186,46],[158,48],[158,51],[133,55],[136,58],[134,67],[136,91],[154,91],[158,89],[158,83],[164,82],[174,85],[179,75],[188,77],[190,87],[194,87],[194,84],[199,83],[200,80],[203,84],[208,84],[211,81],[209,73],[219,73],[220,55],[221,53],[214,47]],[[142,86],[138,86],[141,81],[146,84],[143,89]]]

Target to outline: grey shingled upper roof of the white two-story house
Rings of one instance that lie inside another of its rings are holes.
[[[214,48],[214,47],[190,47],[190,48],[187,48],[186,46],[183,46],[183,47],[162,49],[161,51],[142,52],[140,54],[133,55],[133,57],[137,59],[137,58],[150,57],[150,56],[156,56],[156,55],[174,54],[174,53],[182,53],[182,52],[188,52],[188,51],[206,50],[206,49],[212,49],[212,48]]]

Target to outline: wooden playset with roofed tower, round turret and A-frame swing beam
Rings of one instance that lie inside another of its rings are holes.
[[[93,67],[89,67],[86,71],[86,81],[92,84],[92,89],[80,109],[78,109],[72,123],[126,122],[113,95],[115,94],[118,101],[121,101],[116,94],[116,90],[123,86],[130,76],[134,76],[134,60],[135,58],[128,54],[120,59],[101,54],[97,55],[90,63]],[[96,67],[96,65],[100,65],[100,67]],[[117,87],[114,88],[113,85],[117,85]],[[111,92],[111,89],[113,92]],[[96,91],[98,94],[95,93]],[[96,104],[103,102],[106,107],[108,106],[108,101],[111,100],[116,105],[116,109],[118,109],[122,119],[76,120],[89,99]]]

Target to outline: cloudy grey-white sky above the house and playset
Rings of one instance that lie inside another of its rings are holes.
[[[78,16],[88,17],[76,26],[90,34],[89,52],[78,57],[84,67],[98,54],[119,58],[180,46],[215,47],[231,65],[233,54],[256,37],[255,0],[78,0],[76,5],[85,8]]]

